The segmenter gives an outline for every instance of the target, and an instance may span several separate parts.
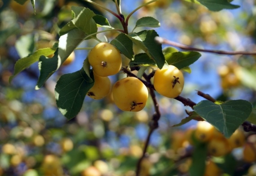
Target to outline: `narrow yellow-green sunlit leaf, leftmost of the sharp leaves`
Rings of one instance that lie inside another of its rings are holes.
[[[18,75],[21,71],[25,70],[26,68],[31,66],[33,63],[37,62],[39,60],[40,56],[42,56],[42,55],[49,56],[49,55],[53,54],[55,52],[55,50],[56,50],[56,48],[42,48],[42,49],[35,51],[35,53],[31,54],[28,57],[23,57],[23,58],[19,59],[15,63],[14,73],[12,76],[10,76],[9,82],[12,81],[14,76]]]

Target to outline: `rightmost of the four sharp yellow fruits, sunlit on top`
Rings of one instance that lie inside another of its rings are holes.
[[[159,94],[168,97],[178,97],[184,87],[184,76],[177,67],[158,69],[154,74],[154,88]]]

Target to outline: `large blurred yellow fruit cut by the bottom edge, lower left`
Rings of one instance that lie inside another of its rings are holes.
[[[42,163],[44,176],[63,176],[63,170],[59,158],[53,154],[44,157]]]

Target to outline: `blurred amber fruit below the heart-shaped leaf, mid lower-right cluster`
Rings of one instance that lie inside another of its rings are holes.
[[[212,138],[207,145],[207,150],[210,155],[216,157],[224,156],[231,151],[230,144],[225,137]]]

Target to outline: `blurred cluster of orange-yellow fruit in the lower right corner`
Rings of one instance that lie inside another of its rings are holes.
[[[252,137],[251,140],[250,137]],[[172,150],[174,150],[176,154],[182,155],[185,148],[191,145],[193,146],[196,143],[204,143],[207,145],[209,158],[206,161],[204,176],[221,175],[221,168],[219,168],[211,158],[223,157],[230,154],[234,149],[241,149],[239,150],[240,158],[243,162],[253,163],[256,161],[256,136],[252,135],[246,138],[243,130],[239,128],[228,139],[206,121],[199,121],[196,128],[188,128],[185,132],[177,131],[173,133]],[[180,170],[182,172],[188,172],[191,163],[191,158],[188,158],[186,162],[181,164]],[[252,165],[251,167],[255,168],[256,166]]]

